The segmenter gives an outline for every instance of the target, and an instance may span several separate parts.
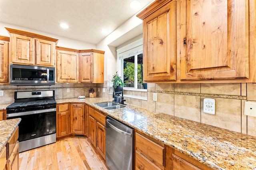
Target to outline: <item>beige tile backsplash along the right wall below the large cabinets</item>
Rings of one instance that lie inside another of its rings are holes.
[[[204,98],[215,99],[215,115],[204,113]],[[125,99],[135,106],[256,136],[256,117],[244,115],[244,102],[256,102],[255,83],[148,83],[147,100]]]

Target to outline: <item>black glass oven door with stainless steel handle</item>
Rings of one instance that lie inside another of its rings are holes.
[[[55,136],[54,142],[56,142],[56,108],[38,111],[26,111],[22,113],[10,113],[7,114],[6,117],[7,119],[21,118],[18,138],[20,143],[23,141],[32,141],[32,145],[37,142],[44,143],[42,145],[36,145],[37,147],[39,147],[39,145],[43,146],[47,143],[45,144],[45,142],[36,140],[48,140],[46,137],[53,134]]]

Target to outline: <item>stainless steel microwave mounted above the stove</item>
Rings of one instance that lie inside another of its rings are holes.
[[[38,86],[55,84],[55,68],[10,64],[10,84]]]

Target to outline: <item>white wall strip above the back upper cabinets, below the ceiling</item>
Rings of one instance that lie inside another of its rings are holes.
[[[26,28],[26,27],[20,27],[20,26],[17,26],[17,25],[11,25],[11,24],[8,24],[8,23],[0,22],[0,35],[4,35],[6,37],[10,37],[10,35],[4,27],[9,27],[9,28],[13,28],[13,29],[20,29],[20,30],[29,31],[29,32],[32,32],[32,33],[38,33],[38,34],[46,35],[48,37],[57,38],[57,39],[59,39],[59,41],[57,43],[57,46],[60,46],[60,47],[66,47],[66,48],[71,48],[71,49],[81,49],[81,50],[83,50],[83,49],[95,49],[96,48],[95,44],[86,43],[86,42],[83,42],[83,41],[78,41],[78,40],[75,40],[75,39],[61,37],[61,36],[58,36],[58,35],[42,32],[42,31],[37,31],[37,30],[34,30],[34,29]]]

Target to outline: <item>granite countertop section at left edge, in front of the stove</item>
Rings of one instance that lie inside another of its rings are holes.
[[[20,121],[20,118],[0,121],[0,152],[4,149]]]

